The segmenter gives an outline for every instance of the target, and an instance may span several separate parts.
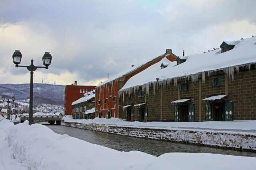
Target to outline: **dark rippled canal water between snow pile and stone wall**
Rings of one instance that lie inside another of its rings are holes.
[[[155,141],[150,139],[140,139],[134,137],[126,137],[121,135],[113,135],[109,133],[102,133],[96,131],[89,131],[85,129],[78,129],[68,126],[46,125],[55,133],[82,139],[84,141],[102,145],[111,149],[119,151],[138,150],[160,156],[168,152],[191,152],[191,153],[213,153],[213,154],[227,154],[236,156],[250,156],[256,157],[256,153],[240,152],[236,150],[224,150],[210,147],[199,147],[196,145],[186,145],[180,143],[172,143],[166,141]]]

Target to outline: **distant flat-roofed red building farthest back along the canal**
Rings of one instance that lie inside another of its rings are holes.
[[[84,93],[95,90],[96,86],[77,86],[77,81],[74,84],[65,87],[65,115],[72,115],[72,103],[84,96]]]

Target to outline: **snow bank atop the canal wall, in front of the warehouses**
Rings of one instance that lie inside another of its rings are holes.
[[[232,132],[241,134],[256,135],[256,120],[254,121],[205,121],[205,122],[129,122],[112,117],[111,119],[72,119],[72,116],[64,118],[65,122],[114,125],[122,127],[139,127],[148,129],[179,129],[179,130],[197,130],[210,132]]]

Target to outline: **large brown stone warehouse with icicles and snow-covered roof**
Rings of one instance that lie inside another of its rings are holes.
[[[120,89],[127,121],[256,119],[256,37],[224,41],[207,53],[166,58]]]

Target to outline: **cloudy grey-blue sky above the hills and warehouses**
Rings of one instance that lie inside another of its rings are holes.
[[[218,48],[256,36],[255,0],[0,0],[0,84],[98,85],[134,64],[162,55]]]

